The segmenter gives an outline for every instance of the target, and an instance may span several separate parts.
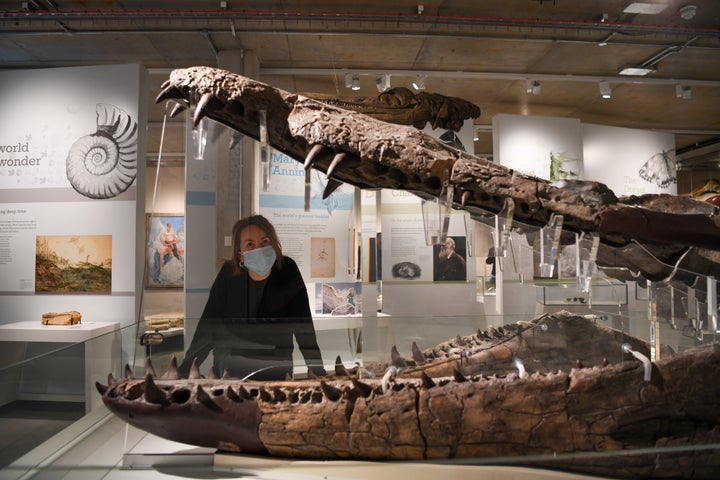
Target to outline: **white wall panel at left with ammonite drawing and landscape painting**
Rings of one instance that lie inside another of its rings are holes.
[[[2,323],[139,315],[146,72],[0,72]],[[116,160],[117,159],[117,160]]]

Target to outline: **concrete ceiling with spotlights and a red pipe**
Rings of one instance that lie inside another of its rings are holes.
[[[419,1],[6,0],[0,68],[144,65],[150,151],[163,116],[153,100],[170,69],[227,68],[223,59],[251,52],[259,80],[297,92],[371,96],[380,73],[407,87],[423,73],[427,91],[481,108],[481,155],[492,154],[493,116],[509,113],[672,132],[683,168],[718,168],[719,1],[647,0],[664,7],[655,14],[625,12],[631,0]],[[655,72],[619,75],[629,64]],[[345,73],[360,75],[359,91]]]

